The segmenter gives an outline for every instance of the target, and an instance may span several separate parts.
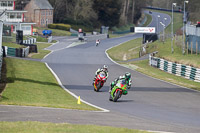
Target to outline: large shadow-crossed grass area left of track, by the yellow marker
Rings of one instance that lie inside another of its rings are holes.
[[[63,90],[44,63],[6,58],[7,86],[0,104],[97,110]]]

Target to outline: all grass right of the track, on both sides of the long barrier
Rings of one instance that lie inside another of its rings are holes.
[[[171,16],[170,12],[161,12],[165,13]],[[182,27],[182,14],[180,13],[174,13],[174,32],[178,31]],[[171,32],[171,25],[169,25],[166,29],[167,33]],[[121,44],[117,47],[114,47],[107,51],[109,56],[115,60],[115,61],[124,61],[124,56],[126,55],[127,60],[130,58],[137,58],[139,55],[139,43],[141,42],[140,39],[135,39],[129,42],[126,42],[124,44]],[[141,43],[140,43],[141,45]],[[190,65],[194,67],[200,67],[200,58],[198,55],[191,55],[191,54],[182,54],[182,36],[179,36],[175,38],[173,43],[174,53],[171,53],[171,39],[167,39],[164,43],[161,41],[156,41],[154,43],[150,43],[147,46],[147,53],[152,53],[154,51],[158,51],[157,57],[164,58],[166,60],[181,63],[185,65]],[[120,54],[119,54],[120,51]],[[135,53],[135,56],[128,56]],[[169,73],[166,73],[164,71],[161,71],[159,69],[156,69],[154,67],[151,67],[148,65],[148,60],[144,61],[135,61],[135,62],[128,62],[123,63],[124,65],[135,65],[137,67],[134,67],[137,71],[140,71],[141,73],[144,73],[146,75],[162,79],[171,83],[175,83],[181,86],[185,86],[188,88],[200,90],[200,83],[187,80],[183,77],[178,77]]]

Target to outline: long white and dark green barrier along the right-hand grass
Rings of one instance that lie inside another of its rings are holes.
[[[149,65],[159,68],[162,71],[184,77],[186,79],[200,82],[200,69],[182,64],[170,62],[161,58],[149,55]]]

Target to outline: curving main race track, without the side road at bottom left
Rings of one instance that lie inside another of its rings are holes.
[[[156,20],[157,14],[153,13]],[[161,18],[169,17],[160,14]],[[168,19],[170,22],[170,18]],[[152,21],[151,25],[155,25]],[[161,29],[160,29],[161,30]],[[55,51],[44,59],[58,75],[62,84],[91,104],[115,112],[137,116],[161,123],[178,124],[188,127],[200,125],[200,93],[147,77],[136,71],[113,63],[105,51],[128,40],[141,37],[140,34],[121,38],[102,40],[98,47],[95,42]],[[62,39],[60,40],[62,42]],[[94,92],[92,79],[97,68],[109,66],[109,78],[101,89]],[[131,72],[133,87],[128,95],[122,96],[117,103],[110,102],[109,84],[125,72]]]

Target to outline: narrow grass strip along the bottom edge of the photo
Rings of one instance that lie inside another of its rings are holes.
[[[43,122],[0,122],[4,133],[149,133],[145,131],[95,125],[54,124]]]

